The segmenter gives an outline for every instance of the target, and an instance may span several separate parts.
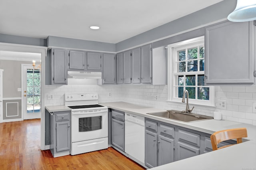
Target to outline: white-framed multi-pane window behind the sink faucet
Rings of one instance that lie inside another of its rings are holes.
[[[213,87],[204,85],[204,37],[169,45],[170,100],[181,101],[188,90],[190,103],[214,105]]]

